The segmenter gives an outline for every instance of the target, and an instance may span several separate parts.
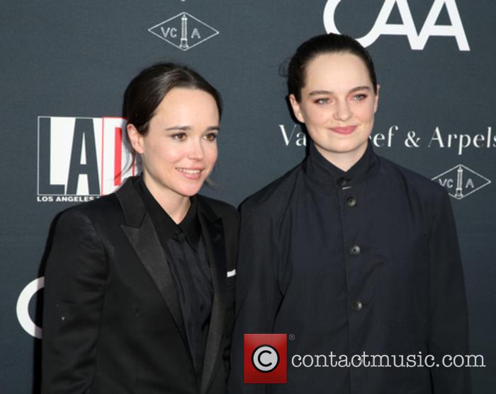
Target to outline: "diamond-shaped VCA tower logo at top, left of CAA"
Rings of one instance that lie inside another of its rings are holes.
[[[218,30],[187,12],[181,12],[167,21],[154,25],[148,31],[184,51],[219,34]]]

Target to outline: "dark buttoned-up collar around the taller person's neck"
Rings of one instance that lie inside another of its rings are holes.
[[[322,156],[317,151],[314,142],[310,140],[309,154],[305,161],[305,173],[308,178],[326,189],[356,185],[371,175],[376,168],[378,168],[378,157],[373,152],[371,141],[368,141],[367,149],[359,161],[349,170],[343,171]]]

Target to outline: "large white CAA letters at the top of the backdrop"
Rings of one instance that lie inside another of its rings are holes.
[[[339,33],[334,21],[334,13],[340,2],[341,0],[327,0],[324,8],[324,26],[327,33]],[[402,24],[388,23],[388,18],[395,5],[398,6],[400,11]],[[451,25],[436,25],[443,6],[446,6]],[[455,0],[434,0],[432,8],[418,34],[408,1],[385,0],[372,29],[363,37],[357,38],[357,40],[363,47],[368,47],[373,42],[376,42],[380,35],[406,35],[412,50],[423,50],[431,36],[455,37],[459,50],[470,50]]]

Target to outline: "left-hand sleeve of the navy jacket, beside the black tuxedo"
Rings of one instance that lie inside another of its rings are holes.
[[[265,393],[266,385],[244,384],[244,334],[272,333],[282,294],[278,287],[280,256],[274,224],[267,216],[241,207],[239,257],[236,282],[236,320],[232,334],[231,370],[228,392]]]

